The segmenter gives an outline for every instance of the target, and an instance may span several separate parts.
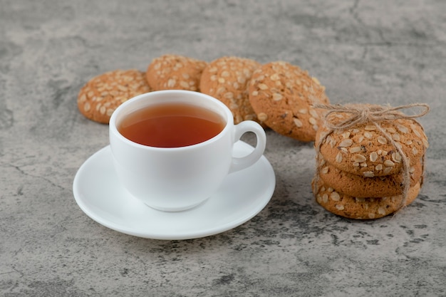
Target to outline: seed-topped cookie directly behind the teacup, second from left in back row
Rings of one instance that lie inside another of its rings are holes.
[[[199,91],[205,61],[181,55],[166,54],[154,58],[147,66],[146,79],[153,90]]]

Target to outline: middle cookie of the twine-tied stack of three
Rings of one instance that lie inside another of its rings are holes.
[[[320,155],[320,154],[319,154]],[[319,156],[319,158],[321,155]],[[343,192],[353,197],[389,197],[403,194],[404,174],[385,175],[381,177],[363,177],[348,173],[330,165],[323,159],[316,160],[319,164],[319,177],[326,186],[335,191]],[[410,187],[415,186],[422,177],[422,162],[410,167]]]

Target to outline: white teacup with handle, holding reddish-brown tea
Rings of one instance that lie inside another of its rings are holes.
[[[120,123],[135,111],[170,103],[195,105],[222,117],[223,129],[195,145],[153,147],[124,137]],[[234,143],[246,132],[256,135],[256,147],[233,157]],[[219,100],[187,90],[145,93],[120,105],[110,118],[110,147],[123,187],[147,206],[176,212],[201,204],[219,189],[227,174],[253,165],[264,153],[266,135],[254,121],[234,125],[229,108]]]

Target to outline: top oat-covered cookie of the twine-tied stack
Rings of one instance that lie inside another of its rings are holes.
[[[336,114],[334,122],[347,117],[346,114]],[[385,134],[376,125],[363,123],[347,130],[335,130],[326,136],[330,130],[324,126],[318,130],[315,145],[320,147],[326,162],[339,170],[364,177],[401,171],[403,157],[395,145],[404,152],[410,167],[416,166],[429,146],[420,123],[404,118],[381,121],[379,125]]]

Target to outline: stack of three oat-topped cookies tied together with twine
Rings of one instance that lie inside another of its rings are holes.
[[[422,126],[402,113],[355,105],[358,113],[378,111],[382,118],[337,128],[351,113],[328,115],[316,135],[313,193],[329,212],[351,219],[376,219],[396,212],[418,196],[428,147]],[[345,125],[344,125],[345,126]]]

